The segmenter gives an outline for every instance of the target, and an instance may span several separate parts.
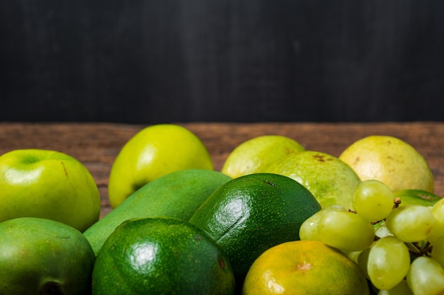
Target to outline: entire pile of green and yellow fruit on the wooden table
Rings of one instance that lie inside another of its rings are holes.
[[[426,160],[370,136],[339,157],[265,135],[221,171],[152,125],[109,175],[66,154],[0,156],[0,294],[444,294],[444,199]]]

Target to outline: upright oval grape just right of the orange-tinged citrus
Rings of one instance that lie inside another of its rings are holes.
[[[367,260],[370,281],[379,290],[389,290],[399,284],[410,267],[410,253],[406,244],[394,236],[374,242]]]

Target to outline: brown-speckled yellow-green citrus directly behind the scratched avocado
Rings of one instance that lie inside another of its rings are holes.
[[[267,170],[286,175],[304,185],[323,208],[339,204],[345,209],[353,209],[352,195],[361,182],[350,166],[320,151],[290,154]]]

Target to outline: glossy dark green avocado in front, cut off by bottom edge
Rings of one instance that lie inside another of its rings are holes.
[[[180,219],[133,219],[118,226],[96,258],[94,295],[234,294],[221,248]]]

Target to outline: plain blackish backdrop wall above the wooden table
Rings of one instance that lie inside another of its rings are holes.
[[[442,0],[0,1],[0,120],[444,119]]]

